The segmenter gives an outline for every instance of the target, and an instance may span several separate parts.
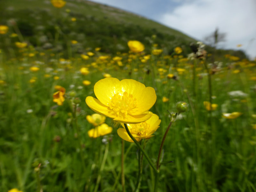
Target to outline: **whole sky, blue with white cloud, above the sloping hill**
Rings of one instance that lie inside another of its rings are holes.
[[[251,59],[256,57],[256,0],[91,1],[139,14],[199,41],[218,28],[226,34],[219,48],[243,50]]]

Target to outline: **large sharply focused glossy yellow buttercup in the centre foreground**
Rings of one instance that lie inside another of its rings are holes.
[[[155,90],[133,79],[101,79],[94,85],[94,93],[98,99],[88,96],[86,104],[96,113],[121,123],[148,120],[151,114],[145,112],[156,102]]]

